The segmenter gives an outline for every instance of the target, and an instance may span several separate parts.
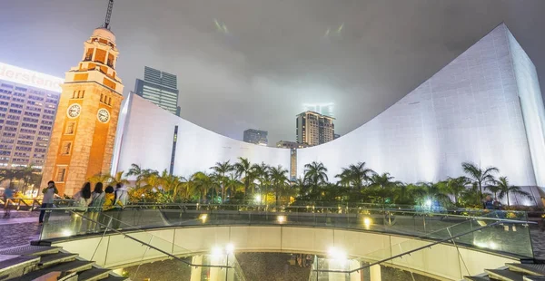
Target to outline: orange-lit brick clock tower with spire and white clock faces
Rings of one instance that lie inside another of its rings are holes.
[[[82,61],[66,73],[41,188],[54,180],[60,194],[73,196],[88,178],[110,172],[124,88],[108,28],[112,4],[104,27],[84,43]]]

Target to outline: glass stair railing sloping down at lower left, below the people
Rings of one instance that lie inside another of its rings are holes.
[[[222,249],[222,251],[213,252],[212,249],[210,254],[203,254],[195,259],[195,257],[189,257],[194,254],[191,250],[177,245],[172,239],[165,239],[117,219],[128,218],[120,216],[119,211],[121,211],[123,215],[142,215],[138,216],[139,222],[147,221],[151,224],[156,218],[150,217],[149,210],[145,213],[133,213],[121,209],[99,212],[100,210],[100,208],[89,208],[84,212],[76,208],[49,209],[50,215],[42,228],[41,239],[60,237],[77,239],[93,234],[93,241],[85,243],[87,250],[78,253],[80,257],[93,260],[98,265],[106,267],[129,266],[130,269],[124,273],[132,280],[146,278],[146,273],[140,270],[141,265],[165,258],[173,259],[176,266],[191,266],[192,276],[195,274],[201,276],[200,278],[193,276],[192,280],[208,280],[210,276],[214,276],[213,280],[244,280],[243,272],[232,251]],[[119,234],[120,237],[112,236],[115,234]],[[123,242],[116,243],[119,238],[123,239]],[[95,246],[89,247],[93,244]],[[128,248],[131,255],[126,255]],[[134,253],[135,249],[139,252]],[[131,265],[136,266],[131,267]]]

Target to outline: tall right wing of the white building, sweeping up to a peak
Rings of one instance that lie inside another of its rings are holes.
[[[472,161],[498,167],[512,184],[536,185],[520,110],[521,81],[510,55],[510,45],[520,46],[508,34],[500,24],[372,121],[340,139],[299,150],[299,175],[314,160],[324,163],[330,179],[342,167],[365,161],[401,181],[437,181],[462,175],[461,162]],[[526,83],[534,85],[532,97],[540,97],[532,75]],[[535,107],[542,110],[543,102]],[[532,156],[543,160],[545,153]]]

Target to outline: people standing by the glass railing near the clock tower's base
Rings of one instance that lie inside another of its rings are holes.
[[[48,220],[50,213],[45,208],[53,208],[54,198],[58,196],[58,189],[54,186],[53,180],[47,183],[42,193],[44,193],[44,200],[40,211],[40,224]],[[128,192],[120,183],[115,185],[115,189],[111,185],[104,189],[104,184],[97,182],[91,191],[91,182],[85,182],[84,187],[75,193],[73,198],[72,229],[74,233],[81,231],[83,218],[86,220],[88,233],[97,232],[101,227],[119,229],[122,211],[128,199]]]

